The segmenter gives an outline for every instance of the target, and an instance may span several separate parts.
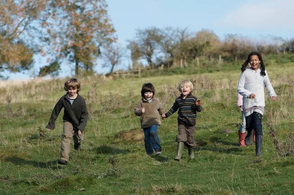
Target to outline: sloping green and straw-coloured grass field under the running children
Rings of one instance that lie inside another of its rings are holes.
[[[227,65],[233,66],[233,65]],[[81,150],[67,166],[60,156],[62,115],[45,129],[66,79],[0,85],[0,194],[93,195],[292,195],[294,194],[294,63],[266,66],[278,100],[266,97],[263,156],[239,147],[239,68],[231,71],[158,75],[104,81],[80,78],[90,119]],[[160,156],[148,156],[133,109],[141,86],[151,82],[168,111],[189,79],[203,111],[197,114],[195,159],[176,154],[177,114],[163,121]],[[267,94],[267,93],[266,93]]]

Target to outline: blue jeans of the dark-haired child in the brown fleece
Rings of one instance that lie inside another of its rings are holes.
[[[157,128],[158,125],[152,125],[149,128],[143,128],[144,131],[144,142],[145,142],[145,149],[147,154],[152,154],[153,149],[155,151],[161,150],[160,140],[157,135]]]

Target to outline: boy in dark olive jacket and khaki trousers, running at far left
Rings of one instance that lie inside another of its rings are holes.
[[[61,109],[64,108],[61,157],[58,163],[67,165],[69,161],[71,138],[73,138],[75,150],[80,148],[84,140],[83,131],[88,121],[88,111],[85,99],[78,94],[81,90],[81,85],[76,78],[71,78],[66,81],[64,83],[64,90],[67,91],[67,93],[62,96],[54,106],[46,128],[48,131],[55,128],[55,121]]]

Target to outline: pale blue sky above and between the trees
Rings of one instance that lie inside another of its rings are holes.
[[[150,26],[188,28],[192,32],[212,30],[222,39],[226,34],[260,39],[266,36],[294,38],[294,0],[106,0],[118,43],[134,39],[136,29]],[[129,59],[122,67],[128,67]],[[99,63],[99,62],[98,62]],[[100,62],[99,64],[101,64]],[[46,60],[35,57],[34,68],[26,73],[5,73],[10,80],[26,80],[46,66]],[[73,67],[73,66],[72,66]],[[60,77],[74,74],[64,63]],[[108,68],[95,67],[97,73]]]

